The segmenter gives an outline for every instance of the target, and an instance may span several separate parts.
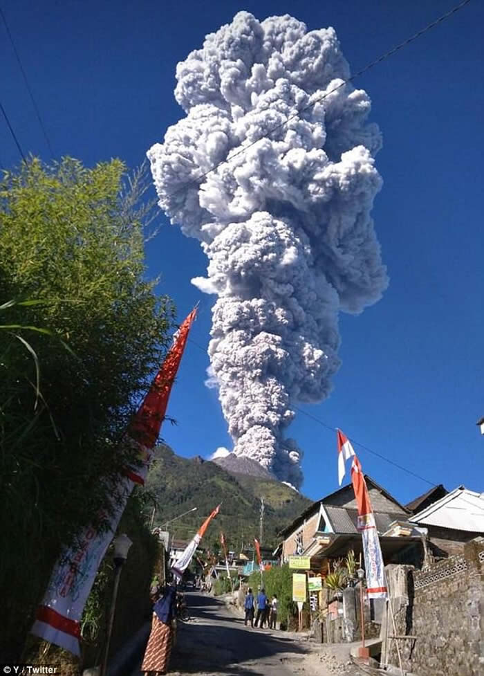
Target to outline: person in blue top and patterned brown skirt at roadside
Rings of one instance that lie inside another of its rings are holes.
[[[162,595],[153,605],[151,633],[145,650],[141,670],[145,676],[161,676],[167,673],[173,630],[173,619],[176,591],[167,585]]]

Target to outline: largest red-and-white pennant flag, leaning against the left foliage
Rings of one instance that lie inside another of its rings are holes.
[[[122,444],[136,450],[139,462],[127,467],[124,475],[111,489],[111,513],[99,515],[109,522],[109,529],[99,533],[90,526],[82,531],[76,544],[59,557],[44,599],[37,608],[37,619],[30,632],[74,655],[80,655],[80,620],[97,569],[113,539],[134,486],[145,483],[153,446],[160,434],[171,387],[195,316],[196,308],[180,327],[175,344],[162,363],[138,412],[129,423]]]

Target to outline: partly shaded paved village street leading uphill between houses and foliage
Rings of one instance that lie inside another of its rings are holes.
[[[347,646],[317,646],[292,632],[245,627],[225,603],[186,594],[192,620],[180,624],[168,673],[173,676],[356,676]],[[141,664],[141,663],[140,663]],[[132,676],[142,676],[138,668]]]

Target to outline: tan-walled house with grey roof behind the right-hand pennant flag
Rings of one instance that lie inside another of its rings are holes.
[[[411,511],[369,475],[364,475],[375,523],[380,534],[385,563],[421,563],[424,558],[422,531],[409,523]],[[290,556],[310,557],[311,569],[324,570],[328,560],[344,556],[353,549],[362,552],[357,530],[357,504],[352,484],[314,502],[281,531],[282,560]]]

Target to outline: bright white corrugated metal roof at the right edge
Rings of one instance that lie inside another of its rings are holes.
[[[484,533],[484,494],[455,488],[427,509],[411,516],[409,521],[423,526]]]

